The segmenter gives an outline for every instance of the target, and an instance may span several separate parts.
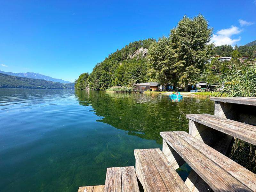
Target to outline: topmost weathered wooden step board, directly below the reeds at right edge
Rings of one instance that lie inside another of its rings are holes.
[[[243,105],[252,105],[256,106],[256,100],[254,98],[245,98],[245,97],[211,97],[212,101],[219,101],[225,103],[236,103]]]

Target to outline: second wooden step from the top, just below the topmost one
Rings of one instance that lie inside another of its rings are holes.
[[[209,114],[190,114],[186,117],[194,122],[256,145],[256,126]]]

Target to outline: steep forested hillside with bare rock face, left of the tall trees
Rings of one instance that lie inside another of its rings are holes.
[[[94,90],[105,90],[114,85],[123,86],[137,82],[147,82],[149,76],[145,57],[152,42],[156,42],[156,40],[135,41],[110,54],[108,58],[93,68],[87,79],[89,87]],[[141,47],[143,47],[143,50],[140,52]],[[82,76],[77,79],[78,83],[81,82],[81,78]],[[81,84],[81,86],[84,85]]]

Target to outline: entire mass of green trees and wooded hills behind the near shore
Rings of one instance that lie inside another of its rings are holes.
[[[140,82],[159,82],[162,85],[181,86],[186,91],[188,84],[205,79],[205,71],[210,83],[217,83],[217,77],[228,70],[230,62],[212,63],[207,60],[212,55],[232,57],[239,65],[238,58],[249,56],[255,59],[256,45],[244,46],[210,43],[212,28],[202,15],[195,18],[184,16],[173,28],[170,35],[155,39],[135,41],[121,50],[110,54],[98,63],[91,74],[81,74],[75,82],[75,89],[106,90],[111,86],[128,86]],[[244,64],[247,63],[244,62]]]

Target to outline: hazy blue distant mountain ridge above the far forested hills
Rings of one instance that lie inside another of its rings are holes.
[[[64,81],[62,79],[55,79],[49,76],[45,76],[39,73],[12,73],[12,72],[5,72],[5,71],[0,71],[0,73],[4,73],[7,75],[12,75],[12,76],[18,76],[18,77],[26,77],[26,78],[32,78],[32,79],[44,79],[46,81],[52,81],[52,82],[58,82],[58,83],[71,83],[70,81]]]

